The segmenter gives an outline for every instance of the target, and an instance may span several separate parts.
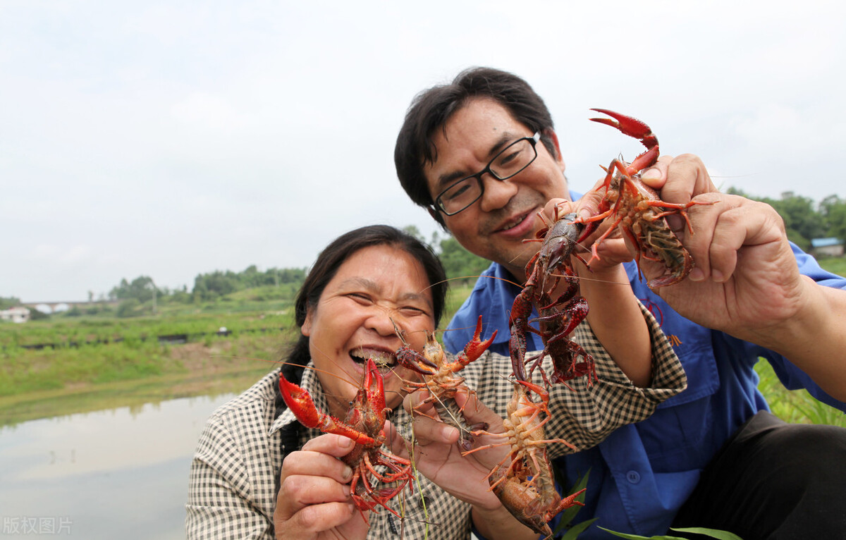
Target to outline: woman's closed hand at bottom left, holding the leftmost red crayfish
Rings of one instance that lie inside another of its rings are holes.
[[[368,526],[349,496],[353,471],[338,460],[353,444],[349,438],[325,434],[285,457],[273,513],[277,539],[367,536]]]

